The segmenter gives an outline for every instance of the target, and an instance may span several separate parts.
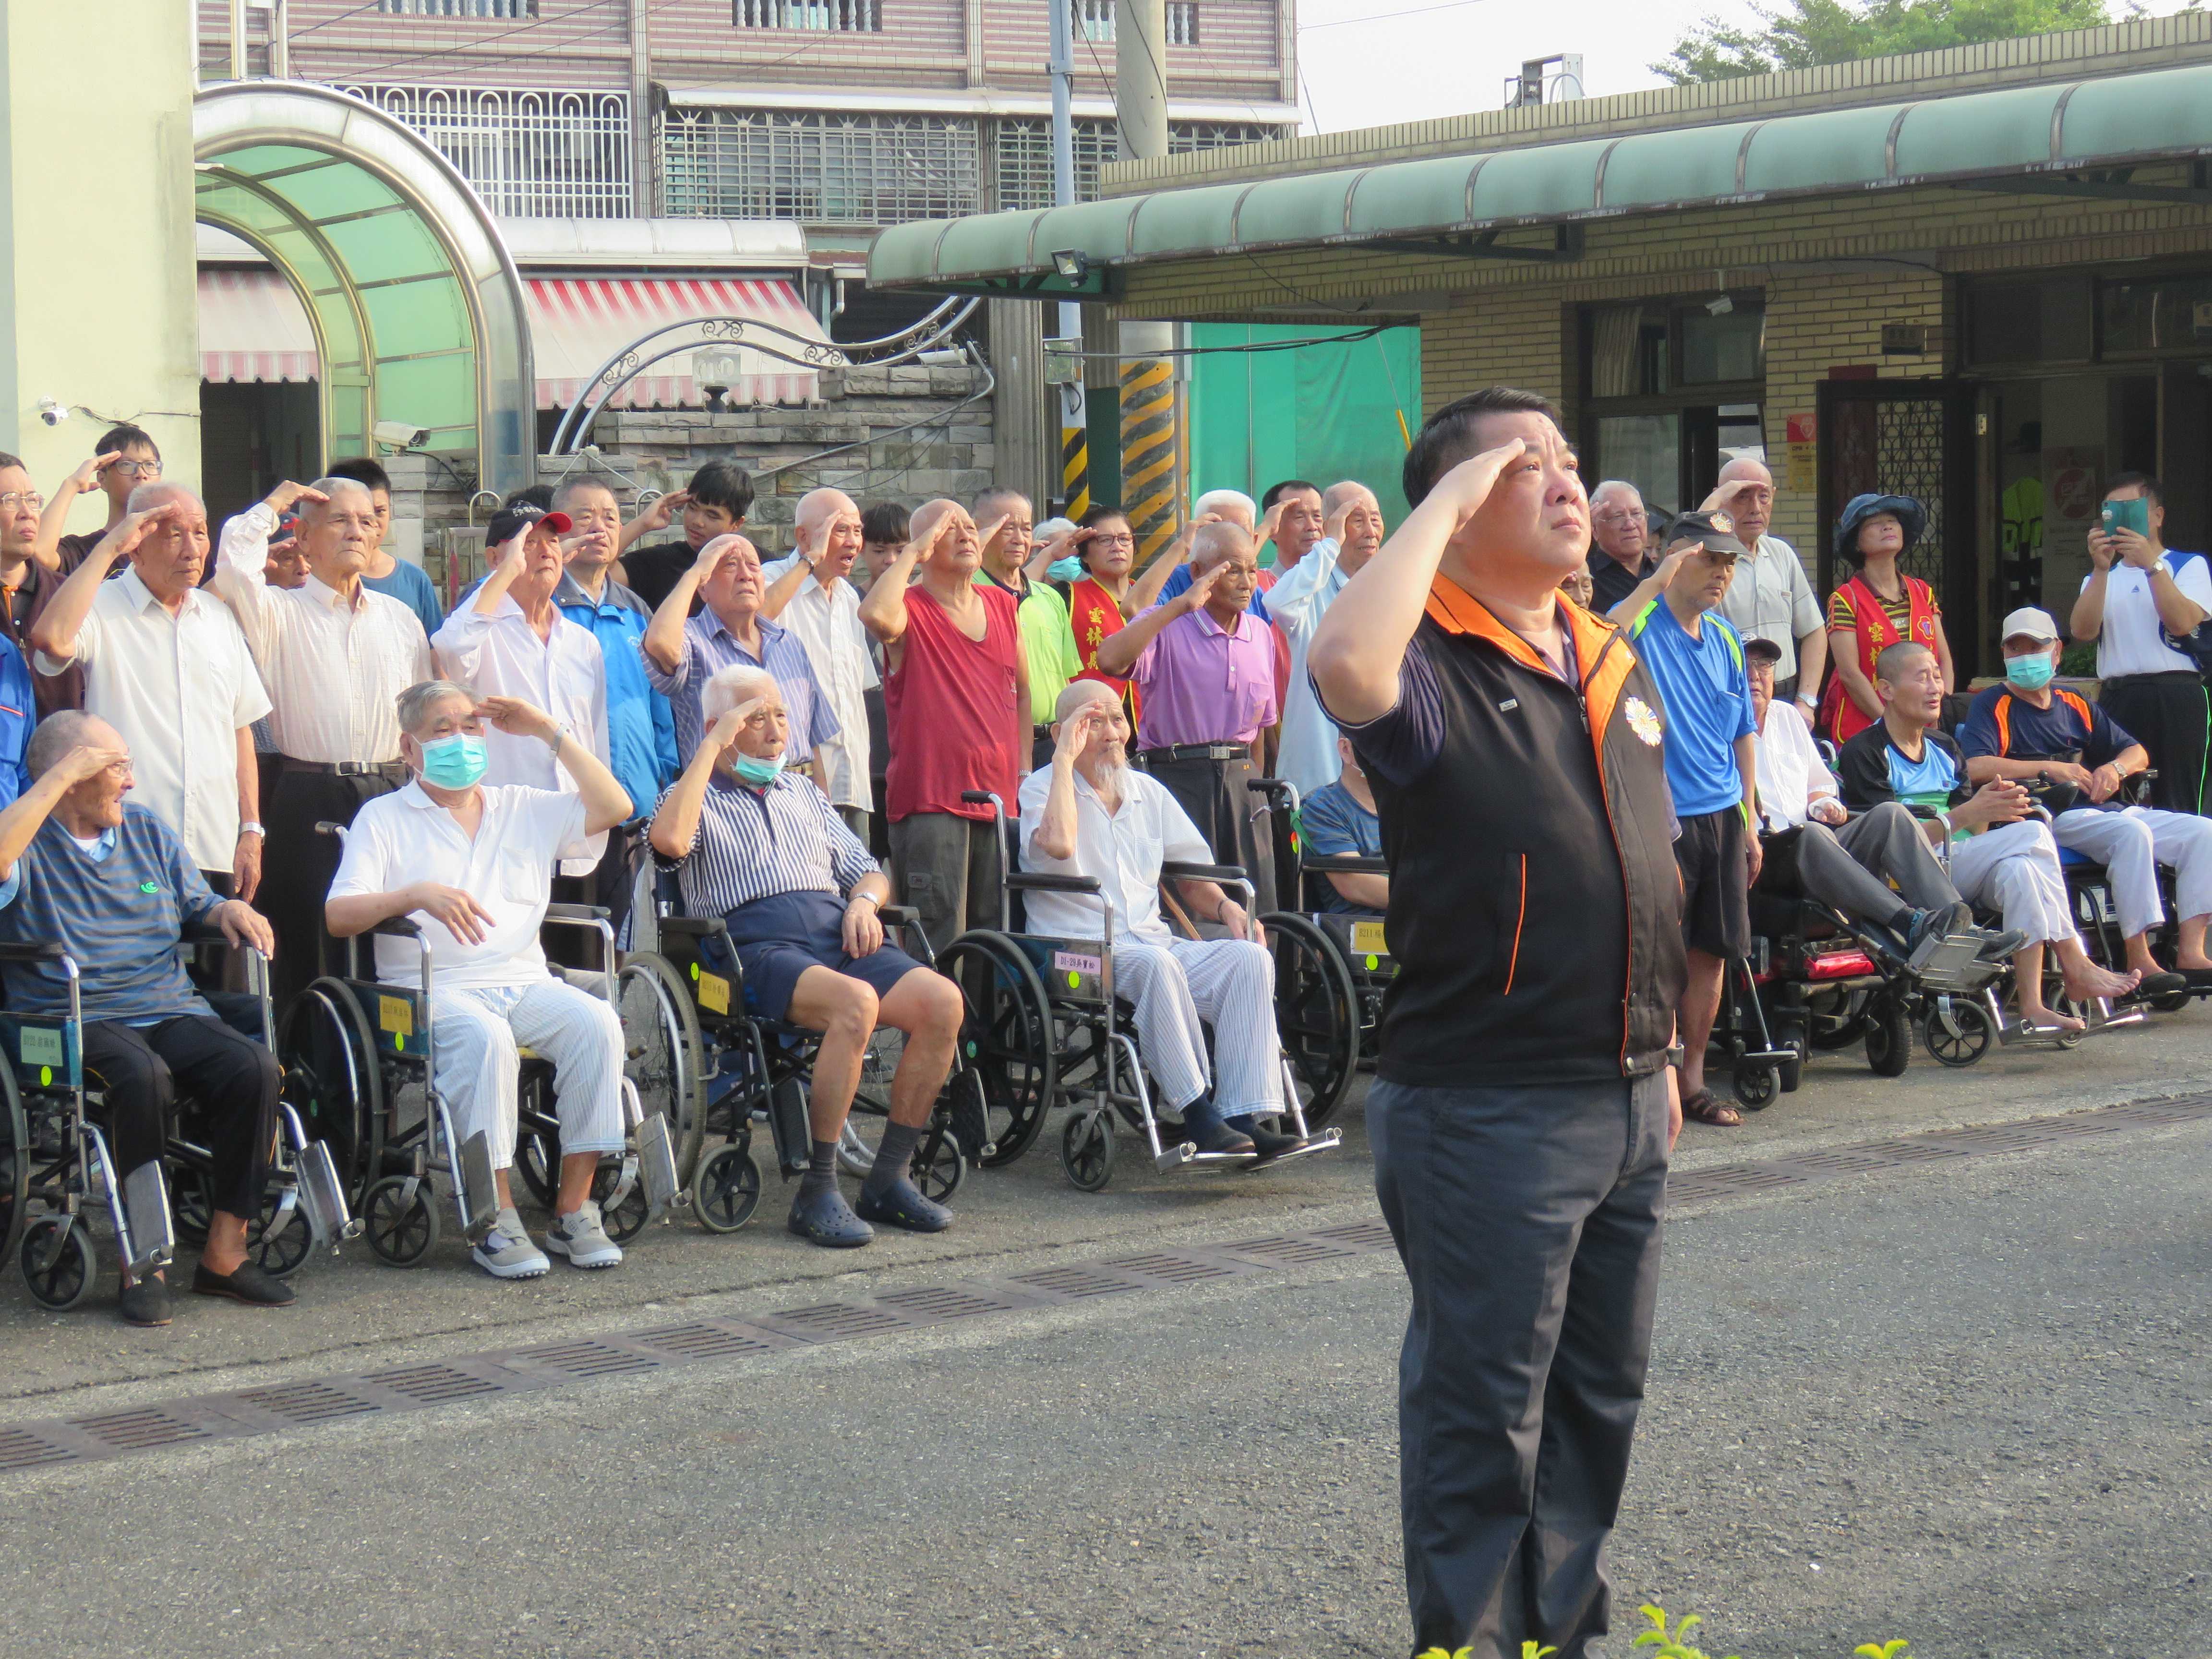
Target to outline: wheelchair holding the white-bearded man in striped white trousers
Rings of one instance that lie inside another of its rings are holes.
[[[960,799],[969,805],[989,805],[1004,838],[1006,812],[995,794],[964,792]],[[1181,1124],[1166,1119],[1155,1106],[1152,1084],[1130,1031],[1128,1006],[1115,995],[1115,911],[1102,883],[1093,876],[1015,869],[1011,856],[1004,872],[1000,927],[969,929],[947,945],[942,956],[942,971],[960,987],[967,1002],[962,1051],[975,1068],[991,1130],[991,1152],[982,1161],[987,1166],[1011,1164],[1035,1144],[1046,1113],[1055,1106],[1068,1106],[1071,1115],[1060,1135],[1060,1164],[1068,1181],[1084,1192],[1102,1192],[1113,1181],[1115,1119],[1144,1137],[1155,1170],[1254,1168],[1256,1159],[1250,1152],[1201,1152],[1192,1141],[1179,1137]],[[1159,876],[1161,880],[1219,883],[1241,891],[1245,907],[1256,911],[1252,883],[1237,865],[1170,863],[1161,865]],[[1099,938],[1051,938],[1022,931],[1013,916],[1015,898],[1037,891],[1097,898],[1104,911]],[[1274,933],[1285,922],[1283,933]],[[1292,960],[1292,973],[1318,975],[1334,962],[1334,971],[1340,975],[1334,987],[1338,1009],[1332,1026],[1338,1033],[1340,1082],[1336,1097],[1327,1102],[1332,1108],[1352,1073],[1345,1048],[1358,1042],[1349,971],[1321,929],[1303,916],[1274,911],[1261,916],[1261,925],[1281,940],[1272,947],[1279,1006],[1285,958]],[[1343,1141],[1340,1130],[1321,1128],[1310,1117],[1310,1099],[1301,1095],[1305,1079],[1292,1064],[1287,1044],[1281,1064],[1283,1108],[1307,1144],[1272,1159],[1270,1168],[1307,1152],[1332,1150]]]

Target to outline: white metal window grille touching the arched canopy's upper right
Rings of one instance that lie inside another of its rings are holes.
[[[345,91],[429,139],[498,215],[626,219],[635,206],[628,93],[471,86]]]

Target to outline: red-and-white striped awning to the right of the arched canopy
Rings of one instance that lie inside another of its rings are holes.
[[[799,336],[768,336],[779,349],[830,345],[799,290],[783,281],[734,276],[533,276],[526,283],[531,345],[538,352],[538,407],[566,409],[599,372],[641,334],[692,319],[745,319]],[[818,396],[816,372],[783,363],[750,345],[706,338],[703,332],[666,334],[646,349],[686,349],[646,367],[608,398],[611,409],[697,409],[701,387],[728,387],[723,403],[805,403]]]

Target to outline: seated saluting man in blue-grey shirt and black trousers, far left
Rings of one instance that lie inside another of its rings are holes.
[[[148,1164],[159,1170],[177,1093],[199,1102],[212,1219],[192,1290],[283,1307],[292,1287],[250,1259],[246,1237],[276,1141],[276,1060],[215,1015],[177,958],[184,929],[206,922],[268,953],[270,925],[210,891],[175,830],[124,801],[131,752],[106,721],[75,710],[49,717],[31,737],[27,770],[35,783],[0,812],[9,1013],[71,1015],[77,978],[82,1062],[104,1082],[115,1139],[108,1181],[119,1175],[126,1192],[139,1190]],[[157,1208],[166,1232],[166,1197]],[[159,1270],[124,1265],[122,1316],[168,1325]]]

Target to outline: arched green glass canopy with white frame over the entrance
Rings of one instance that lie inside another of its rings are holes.
[[[192,159],[197,219],[252,243],[307,307],[325,460],[374,453],[376,422],[398,420],[482,487],[533,480],[522,276],[438,150],[327,86],[232,82],[195,97]]]

